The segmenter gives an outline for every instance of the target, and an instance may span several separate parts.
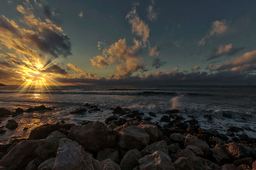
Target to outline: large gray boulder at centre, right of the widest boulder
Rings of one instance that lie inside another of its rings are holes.
[[[142,149],[149,142],[149,135],[143,128],[130,125],[128,128],[122,128],[119,131],[119,145],[129,150]]]

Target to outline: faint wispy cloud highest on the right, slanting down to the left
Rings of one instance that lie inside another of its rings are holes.
[[[216,20],[214,23],[211,23],[211,28],[209,29],[206,36],[203,37],[203,39],[198,42],[198,45],[206,45],[206,42],[208,42],[208,39],[210,39],[212,36],[218,36],[222,35],[227,31],[227,24],[226,20]]]

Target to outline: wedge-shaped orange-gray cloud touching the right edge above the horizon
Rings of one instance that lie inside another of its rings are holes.
[[[244,55],[236,58],[231,58],[221,66],[215,66],[211,70],[230,70],[237,72],[256,70],[256,50],[244,53]]]

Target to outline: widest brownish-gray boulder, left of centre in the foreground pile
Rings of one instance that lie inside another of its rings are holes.
[[[114,147],[118,142],[118,133],[96,121],[88,125],[73,126],[69,131],[69,139],[81,144],[85,150],[99,151]]]

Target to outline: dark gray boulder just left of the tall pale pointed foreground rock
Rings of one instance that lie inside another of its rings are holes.
[[[55,158],[59,147],[59,140],[63,138],[67,138],[67,136],[61,134],[59,131],[53,131],[46,139],[43,139],[35,152],[39,158],[42,158],[43,160]]]

